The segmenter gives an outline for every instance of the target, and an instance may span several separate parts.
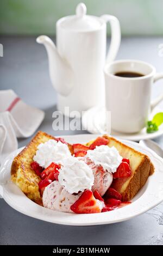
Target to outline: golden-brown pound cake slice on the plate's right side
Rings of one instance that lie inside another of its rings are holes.
[[[122,195],[123,201],[131,200],[140,188],[145,185],[148,176],[154,173],[154,166],[149,157],[133,148],[117,141],[117,139],[103,136],[109,140],[108,146],[114,146],[123,158],[130,161],[131,176],[114,179],[111,187]]]

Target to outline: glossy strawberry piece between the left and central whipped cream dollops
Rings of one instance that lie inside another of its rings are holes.
[[[40,174],[41,179],[51,179],[52,181],[58,180],[59,169],[61,165],[52,162],[43,172]]]

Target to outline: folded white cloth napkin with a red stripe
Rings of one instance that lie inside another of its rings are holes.
[[[0,90],[0,163],[17,149],[17,138],[33,135],[45,113],[24,103],[13,90]]]

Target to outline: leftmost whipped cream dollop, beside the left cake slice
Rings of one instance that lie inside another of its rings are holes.
[[[40,166],[47,168],[52,162],[62,164],[66,157],[71,156],[68,146],[55,139],[49,139],[45,143],[41,143],[37,147],[34,161],[39,163]]]

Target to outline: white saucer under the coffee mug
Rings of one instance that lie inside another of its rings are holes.
[[[156,107],[151,113],[150,119],[153,115],[162,112],[162,109]],[[106,130],[105,107],[93,107],[87,110],[82,117],[83,128],[93,134],[109,133]],[[120,139],[128,139],[129,141],[140,141],[140,139],[154,139],[163,135],[163,125],[159,126],[159,130],[153,133],[147,133],[146,127],[137,133],[121,133],[111,130],[110,134]]]

